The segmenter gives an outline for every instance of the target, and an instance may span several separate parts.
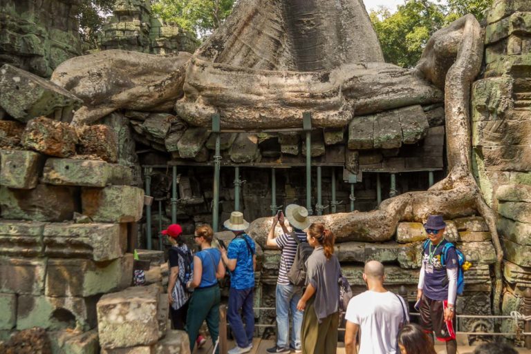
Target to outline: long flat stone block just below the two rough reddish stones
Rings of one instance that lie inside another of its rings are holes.
[[[133,173],[129,167],[105,161],[50,158],[44,165],[41,181],[56,186],[128,185],[133,183]]]

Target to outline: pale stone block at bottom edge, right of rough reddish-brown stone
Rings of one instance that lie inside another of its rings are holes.
[[[97,354],[100,344],[97,330],[84,333],[72,331],[48,332],[53,354]]]

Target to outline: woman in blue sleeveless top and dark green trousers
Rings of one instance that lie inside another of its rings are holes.
[[[205,319],[212,342],[218,340],[221,302],[218,279],[225,277],[225,267],[221,253],[211,246],[213,237],[214,231],[208,225],[198,226],[194,233],[194,240],[201,250],[194,255],[193,275],[187,283],[187,288],[194,290],[187,314],[190,353],[194,351],[199,328]]]

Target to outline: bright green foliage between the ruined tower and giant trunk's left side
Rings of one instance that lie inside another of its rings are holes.
[[[209,35],[229,16],[234,0],[153,0],[153,14],[201,37]]]

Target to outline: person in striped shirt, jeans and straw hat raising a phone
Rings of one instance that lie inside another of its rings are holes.
[[[281,249],[279,275],[277,277],[277,289],[275,291],[275,304],[277,307],[277,343],[272,348],[268,348],[268,353],[290,353],[290,349],[295,353],[301,353],[301,325],[302,312],[297,310],[297,303],[302,296],[302,286],[291,284],[288,279],[295,254],[297,253],[297,242],[306,242],[304,229],[310,226],[308,210],[303,206],[290,204],[286,207],[286,219],[293,230],[292,233],[284,224],[284,215],[281,211],[273,217],[273,223],[268,234],[267,246]],[[274,228],[277,224],[282,228],[282,234],[274,237]],[[290,314],[292,321],[292,331],[290,337]]]

